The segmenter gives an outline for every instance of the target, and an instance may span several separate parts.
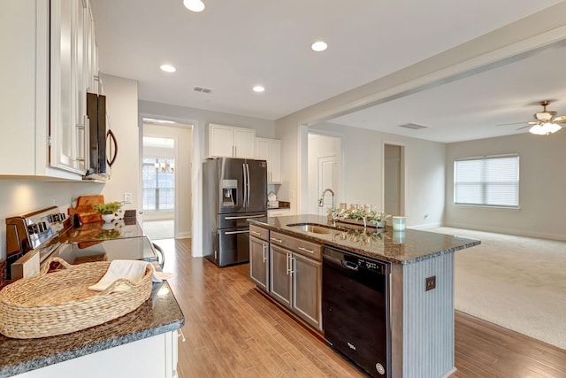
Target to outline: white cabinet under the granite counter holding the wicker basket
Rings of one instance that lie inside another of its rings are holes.
[[[41,367],[17,378],[176,378],[178,331],[166,332],[104,351]]]

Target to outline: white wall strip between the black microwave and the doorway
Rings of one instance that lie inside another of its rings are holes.
[[[137,81],[102,74],[106,95],[106,111],[110,127],[118,142],[118,155],[112,166],[111,180],[104,186],[106,202],[123,201],[124,193],[132,193],[132,204],[124,209],[142,208],[140,196],[140,144],[138,127]],[[139,217],[138,217],[139,219]]]

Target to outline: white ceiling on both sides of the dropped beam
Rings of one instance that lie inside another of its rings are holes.
[[[277,120],[560,0],[203,2],[195,13],[182,0],[91,0],[101,72],[138,81],[142,100]],[[319,39],[329,47],[316,53],[310,44]],[[495,125],[532,120],[540,110],[533,102],[555,99],[548,109],[566,113],[565,51],[332,122],[440,142],[514,134],[521,125]],[[162,72],[164,63],[177,72]],[[253,92],[256,84],[265,92]],[[429,128],[398,127],[410,122]]]

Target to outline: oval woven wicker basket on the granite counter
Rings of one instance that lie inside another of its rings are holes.
[[[52,262],[65,269],[48,274]],[[142,280],[135,284],[119,279],[104,291],[89,290],[109,266],[109,261],[74,266],[50,258],[40,274],[0,291],[0,333],[19,339],[63,335],[134,311],[151,295],[153,266],[148,264]],[[121,282],[130,288],[114,291]]]

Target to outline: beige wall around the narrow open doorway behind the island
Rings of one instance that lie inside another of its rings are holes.
[[[344,201],[383,209],[384,145],[404,146],[407,226],[440,226],[445,200],[446,145],[325,123],[310,127],[342,135]]]

